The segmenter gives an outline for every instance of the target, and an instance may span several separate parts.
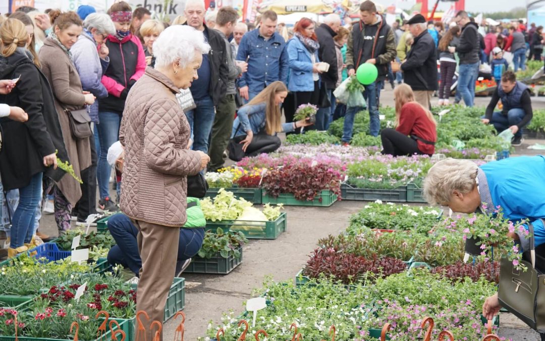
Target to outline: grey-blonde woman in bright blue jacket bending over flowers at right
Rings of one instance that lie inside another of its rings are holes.
[[[449,206],[453,212],[492,215],[499,206],[513,223],[528,220],[534,226],[535,246],[545,246],[545,227],[540,220],[545,217],[545,157],[541,155],[507,158],[479,167],[470,160],[441,160],[428,171],[423,191],[430,204]],[[529,250],[527,238],[515,232],[509,236],[519,240],[524,251]],[[488,297],[483,315],[490,320],[499,310],[498,294]],[[541,339],[545,340],[545,334]]]

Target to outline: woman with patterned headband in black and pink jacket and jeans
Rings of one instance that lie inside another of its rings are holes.
[[[108,90],[108,97],[99,99],[100,151],[96,177],[99,183],[100,210],[117,211],[110,200],[108,184],[112,169],[108,165],[108,148],[119,140],[119,124],[125,108],[125,99],[130,88],[146,70],[146,56],[140,39],[130,31],[132,12],[128,3],[120,1],[108,9],[116,34],[108,35],[106,46],[110,50],[110,65],[102,76],[102,84]]]

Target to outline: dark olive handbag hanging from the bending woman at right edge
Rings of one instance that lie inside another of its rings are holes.
[[[541,219],[545,224],[545,221]],[[500,262],[500,284],[498,300],[500,305],[517,316],[537,332],[545,332],[545,274],[540,270],[543,264],[536,265],[534,226],[528,223],[530,250],[520,261],[528,270],[517,270],[506,257]],[[543,258],[538,257],[543,262]]]

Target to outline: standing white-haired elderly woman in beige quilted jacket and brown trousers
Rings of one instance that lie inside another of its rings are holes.
[[[162,321],[174,279],[180,226],[186,223],[187,176],[210,158],[187,148],[191,130],[175,95],[197,79],[204,34],[185,25],[170,26],[153,45],[155,68],[132,87],[119,132],[125,147],[120,207],[138,229],[142,259],[136,310]],[[147,339],[152,333],[147,331]]]

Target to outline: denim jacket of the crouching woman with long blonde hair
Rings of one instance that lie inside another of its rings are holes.
[[[255,105],[245,105],[237,112],[237,118],[233,122],[233,133],[231,138],[246,135],[246,131],[252,130],[253,134],[258,134],[259,131],[265,128],[265,103]],[[240,125],[240,129],[239,129]],[[287,133],[293,131],[293,123],[283,123],[282,131]]]

